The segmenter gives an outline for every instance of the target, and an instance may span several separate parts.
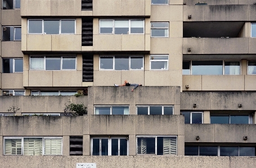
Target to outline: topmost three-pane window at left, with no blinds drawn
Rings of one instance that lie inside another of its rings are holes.
[[[75,20],[28,20],[29,34],[75,34]]]

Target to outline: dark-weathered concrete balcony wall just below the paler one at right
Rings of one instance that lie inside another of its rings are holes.
[[[181,110],[251,110],[256,109],[255,92],[182,92]],[[196,103],[196,107],[193,107]],[[242,107],[238,107],[242,104]]]

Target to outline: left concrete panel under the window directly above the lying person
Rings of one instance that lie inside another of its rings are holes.
[[[114,84],[123,84],[121,73],[122,71],[93,71],[93,85],[114,86]]]

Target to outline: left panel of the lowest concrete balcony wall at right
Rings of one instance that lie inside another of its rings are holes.
[[[185,124],[185,142],[186,143],[213,143],[215,124]],[[227,134],[227,132],[223,132]],[[196,140],[196,136],[200,139]]]

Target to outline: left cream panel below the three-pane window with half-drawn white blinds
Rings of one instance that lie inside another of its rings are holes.
[[[93,51],[121,51],[122,35],[120,34],[94,34]]]

